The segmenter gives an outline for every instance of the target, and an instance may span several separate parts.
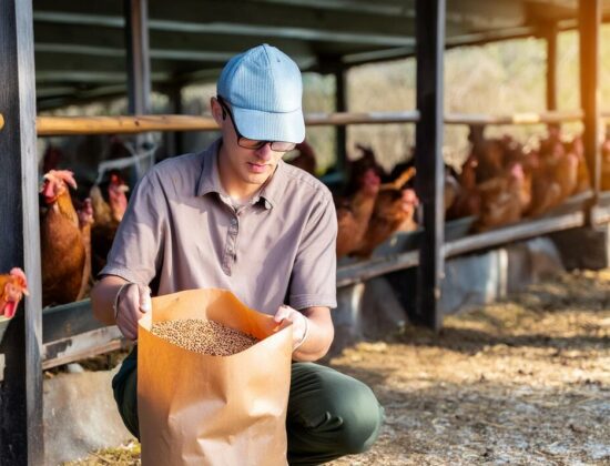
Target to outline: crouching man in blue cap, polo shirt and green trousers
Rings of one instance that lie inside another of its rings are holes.
[[[336,214],[329,191],[282,161],[305,138],[297,65],[263,44],[234,57],[211,99],[222,138],[155,165],[136,186],[101,280],[95,316],[130,340],[155,294],[228,288],[293,324],[288,462],[319,464],[367,449],[383,409],[363,383],[311,362],[334,336]],[[138,430],[136,355],[113,379]]]

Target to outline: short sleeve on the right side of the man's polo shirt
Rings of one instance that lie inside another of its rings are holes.
[[[298,245],[288,295],[296,310],[337,306],[337,215],[329,197],[312,210]]]

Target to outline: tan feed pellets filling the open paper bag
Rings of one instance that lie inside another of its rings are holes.
[[[257,342],[254,336],[201,318],[157,322],[151,332],[176,346],[212,356],[231,356]]]

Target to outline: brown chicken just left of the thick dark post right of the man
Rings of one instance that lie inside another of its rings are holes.
[[[395,182],[382,184],[362,246],[354,252],[359,257],[369,257],[375,247],[397,231],[413,231],[413,220],[418,205],[417,195],[403,186],[415,175],[415,169],[407,169]]]

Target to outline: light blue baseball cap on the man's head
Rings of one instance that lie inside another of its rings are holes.
[[[264,43],[233,57],[216,92],[231,103],[235,125],[245,138],[294,143],[305,139],[301,71],[275,47]]]

